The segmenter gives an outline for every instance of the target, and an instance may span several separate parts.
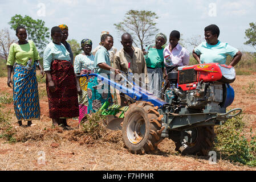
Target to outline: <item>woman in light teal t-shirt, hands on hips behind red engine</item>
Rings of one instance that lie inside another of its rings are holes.
[[[206,42],[201,43],[193,50],[193,57],[197,60],[198,64],[226,64],[226,58],[230,55],[233,59],[229,65],[234,67],[241,60],[242,53],[237,48],[220,42],[218,40],[219,35],[220,29],[215,24],[205,27]]]

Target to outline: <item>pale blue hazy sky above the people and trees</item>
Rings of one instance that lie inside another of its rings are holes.
[[[256,22],[255,0],[0,0],[0,30],[10,28],[8,22],[15,14],[42,19],[50,30],[59,24],[67,24],[68,40],[79,43],[88,38],[93,48],[100,42],[101,31],[108,31],[114,38],[114,47],[121,49],[121,35],[114,23],[124,19],[129,10],[153,11],[159,16],[156,27],[168,40],[172,30],[178,30],[183,40],[201,36],[209,24],[220,28],[219,40],[240,51],[256,51],[246,42],[245,30]],[[13,36],[15,32],[12,30]],[[192,52],[193,47],[187,47]]]

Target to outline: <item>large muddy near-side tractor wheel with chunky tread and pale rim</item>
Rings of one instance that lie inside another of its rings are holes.
[[[137,101],[125,112],[122,134],[125,146],[133,154],[151,153],[162,141],[162,117],[151,102]]]

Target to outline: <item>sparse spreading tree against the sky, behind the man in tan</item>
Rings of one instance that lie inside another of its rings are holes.
[[[135,45],[141,46],[143,49],[144,44],[152,43],[152,36],[159,31],[156,28],[156,19],[158,18],[152,11],[129,10],[125,14],[123,22],[115,23],[114,26],[121,34],[125,32],[131,34]]]

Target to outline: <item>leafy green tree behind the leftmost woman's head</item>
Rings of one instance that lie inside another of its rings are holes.
[[[11,28],[16,30],[18,26],[24,26],[27,30],[27,38],[35,43],[36,48],[43,50],[50,38],[49,28],[44,27],[44,21],[34,20],[30,16],[15,15],[9,22]]]

